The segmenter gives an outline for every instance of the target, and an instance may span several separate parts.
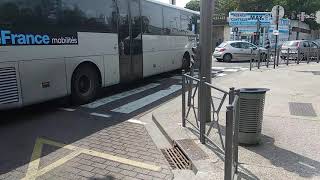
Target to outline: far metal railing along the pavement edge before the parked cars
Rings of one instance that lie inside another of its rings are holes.
[[[276,68],[281,64],[288,66],[319,61],[320,48],[278,48],[277,51],[268,49],[267,52],[259,49],[257,53],[251,50],[250,70],[263,66]]]

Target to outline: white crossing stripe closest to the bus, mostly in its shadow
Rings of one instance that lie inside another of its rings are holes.
[[[109,96],[109,97],[106,97],[106,98],[99,99],[99,100],[94,101],[92,103],[82,105],[82,107],[86,107],[86,108],[90,108],[90,109],[97,108],[97,107],[103,106],[103,105],[105,105],[107,103],[110,103],[110,102],[113,102],[113,101],[117,101],[119,99],[131,96],[133,94],[137,94],[137,93],[146,91],[148,89],[155,88],[155,87],[157,87],[159,85],[160,84],[151,83],[151,84],[148,84],[148,85],[143,86],[143,87],[139,87],[139,88],[136,88],[136,89],[132,89],[130,91],[126,91],[126,92],[123,92],[123,93],[115,94],[113,96]]]

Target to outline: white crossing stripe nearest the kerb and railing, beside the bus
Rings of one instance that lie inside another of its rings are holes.
[[[113,109],[112,111],[128,114],[128,113],[134,112],[144,106],[147,106],[147,105],[149,105],[149,104],[151,104],[151,103],[153,103],[153,102],[155,102],[165,96],[168,96],[168,95],[180,90],[181,88],[182,88],[181,85],[172,85],[166,90],[161,90],[159,92],[156,92],[156,93],[151,94],[149,96],[146,96],[144,98],[138,99],[136,101],[133,101],[131,103],[128,103],[126,105],[118,107],[116,109]]]

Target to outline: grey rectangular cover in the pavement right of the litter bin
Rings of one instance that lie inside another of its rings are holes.
[[[289,102],[290,114],[294,116],[317,117],[311,103]]]

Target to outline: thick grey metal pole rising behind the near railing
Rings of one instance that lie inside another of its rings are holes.
[[[212,3],[214,0],[201,0],[200,12],[200,77],[205,77],[206,82],[211,83],[212,67]],[[200,118],[210,122],[211,91],[209,86],[202,86],[199,89]],[[201,121],[201,120],[200,120]]]

